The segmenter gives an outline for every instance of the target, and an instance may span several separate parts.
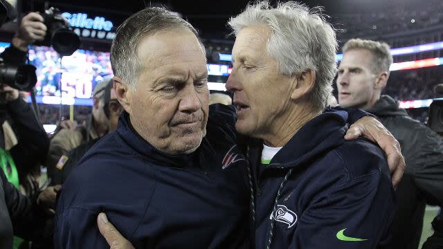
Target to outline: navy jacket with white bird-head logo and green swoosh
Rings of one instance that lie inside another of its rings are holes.
[[[377,248],[388,238],[396,203],[386,159],[366,140],[345,141],[346,130],[345,111],[323,113],[269,165],[262,141],[251,142],[255,248]]]

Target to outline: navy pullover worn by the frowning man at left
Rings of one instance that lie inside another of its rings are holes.
[[[247,248],[251,192],[234,109],[213,105],[209,113],[201,146],[183,156],[154,149],[123,113],[64,183],[55,248],[109,248],[99,212],[136,248]]]

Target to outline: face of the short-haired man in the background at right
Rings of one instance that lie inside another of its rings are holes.
[[[342,107],[370,108],[376,75],[372,73],[372,53],[348,50],[338,67],[338,104]]]

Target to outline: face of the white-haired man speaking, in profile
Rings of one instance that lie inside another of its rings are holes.
[[[235,128],[256,138],[278,132],[289,107],[291,77],[278,73],[277,61],[266,53],[271,30],[242,28],[233,47],[233,71],[226,89],[234,92]]]

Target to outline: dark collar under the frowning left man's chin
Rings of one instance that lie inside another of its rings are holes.
[[[129,113],[123,111],[122,115],[118,120],[117,133],[120,138],[137,154],[145,158],[145,160],[156,163],[159,165],[170,165],[172,167],[188,167],[193,164],[192,158],[195,158],[194,155],[198,154],[197,151],[188,155],[177,155],[170,156],[168,154],[164,154],[163,152],[156,149],[154,146],[150,145],[144,138],[142,138],[132,127],[132,124],[129,121]],[[197,158],[195,158],[198,160]]]

